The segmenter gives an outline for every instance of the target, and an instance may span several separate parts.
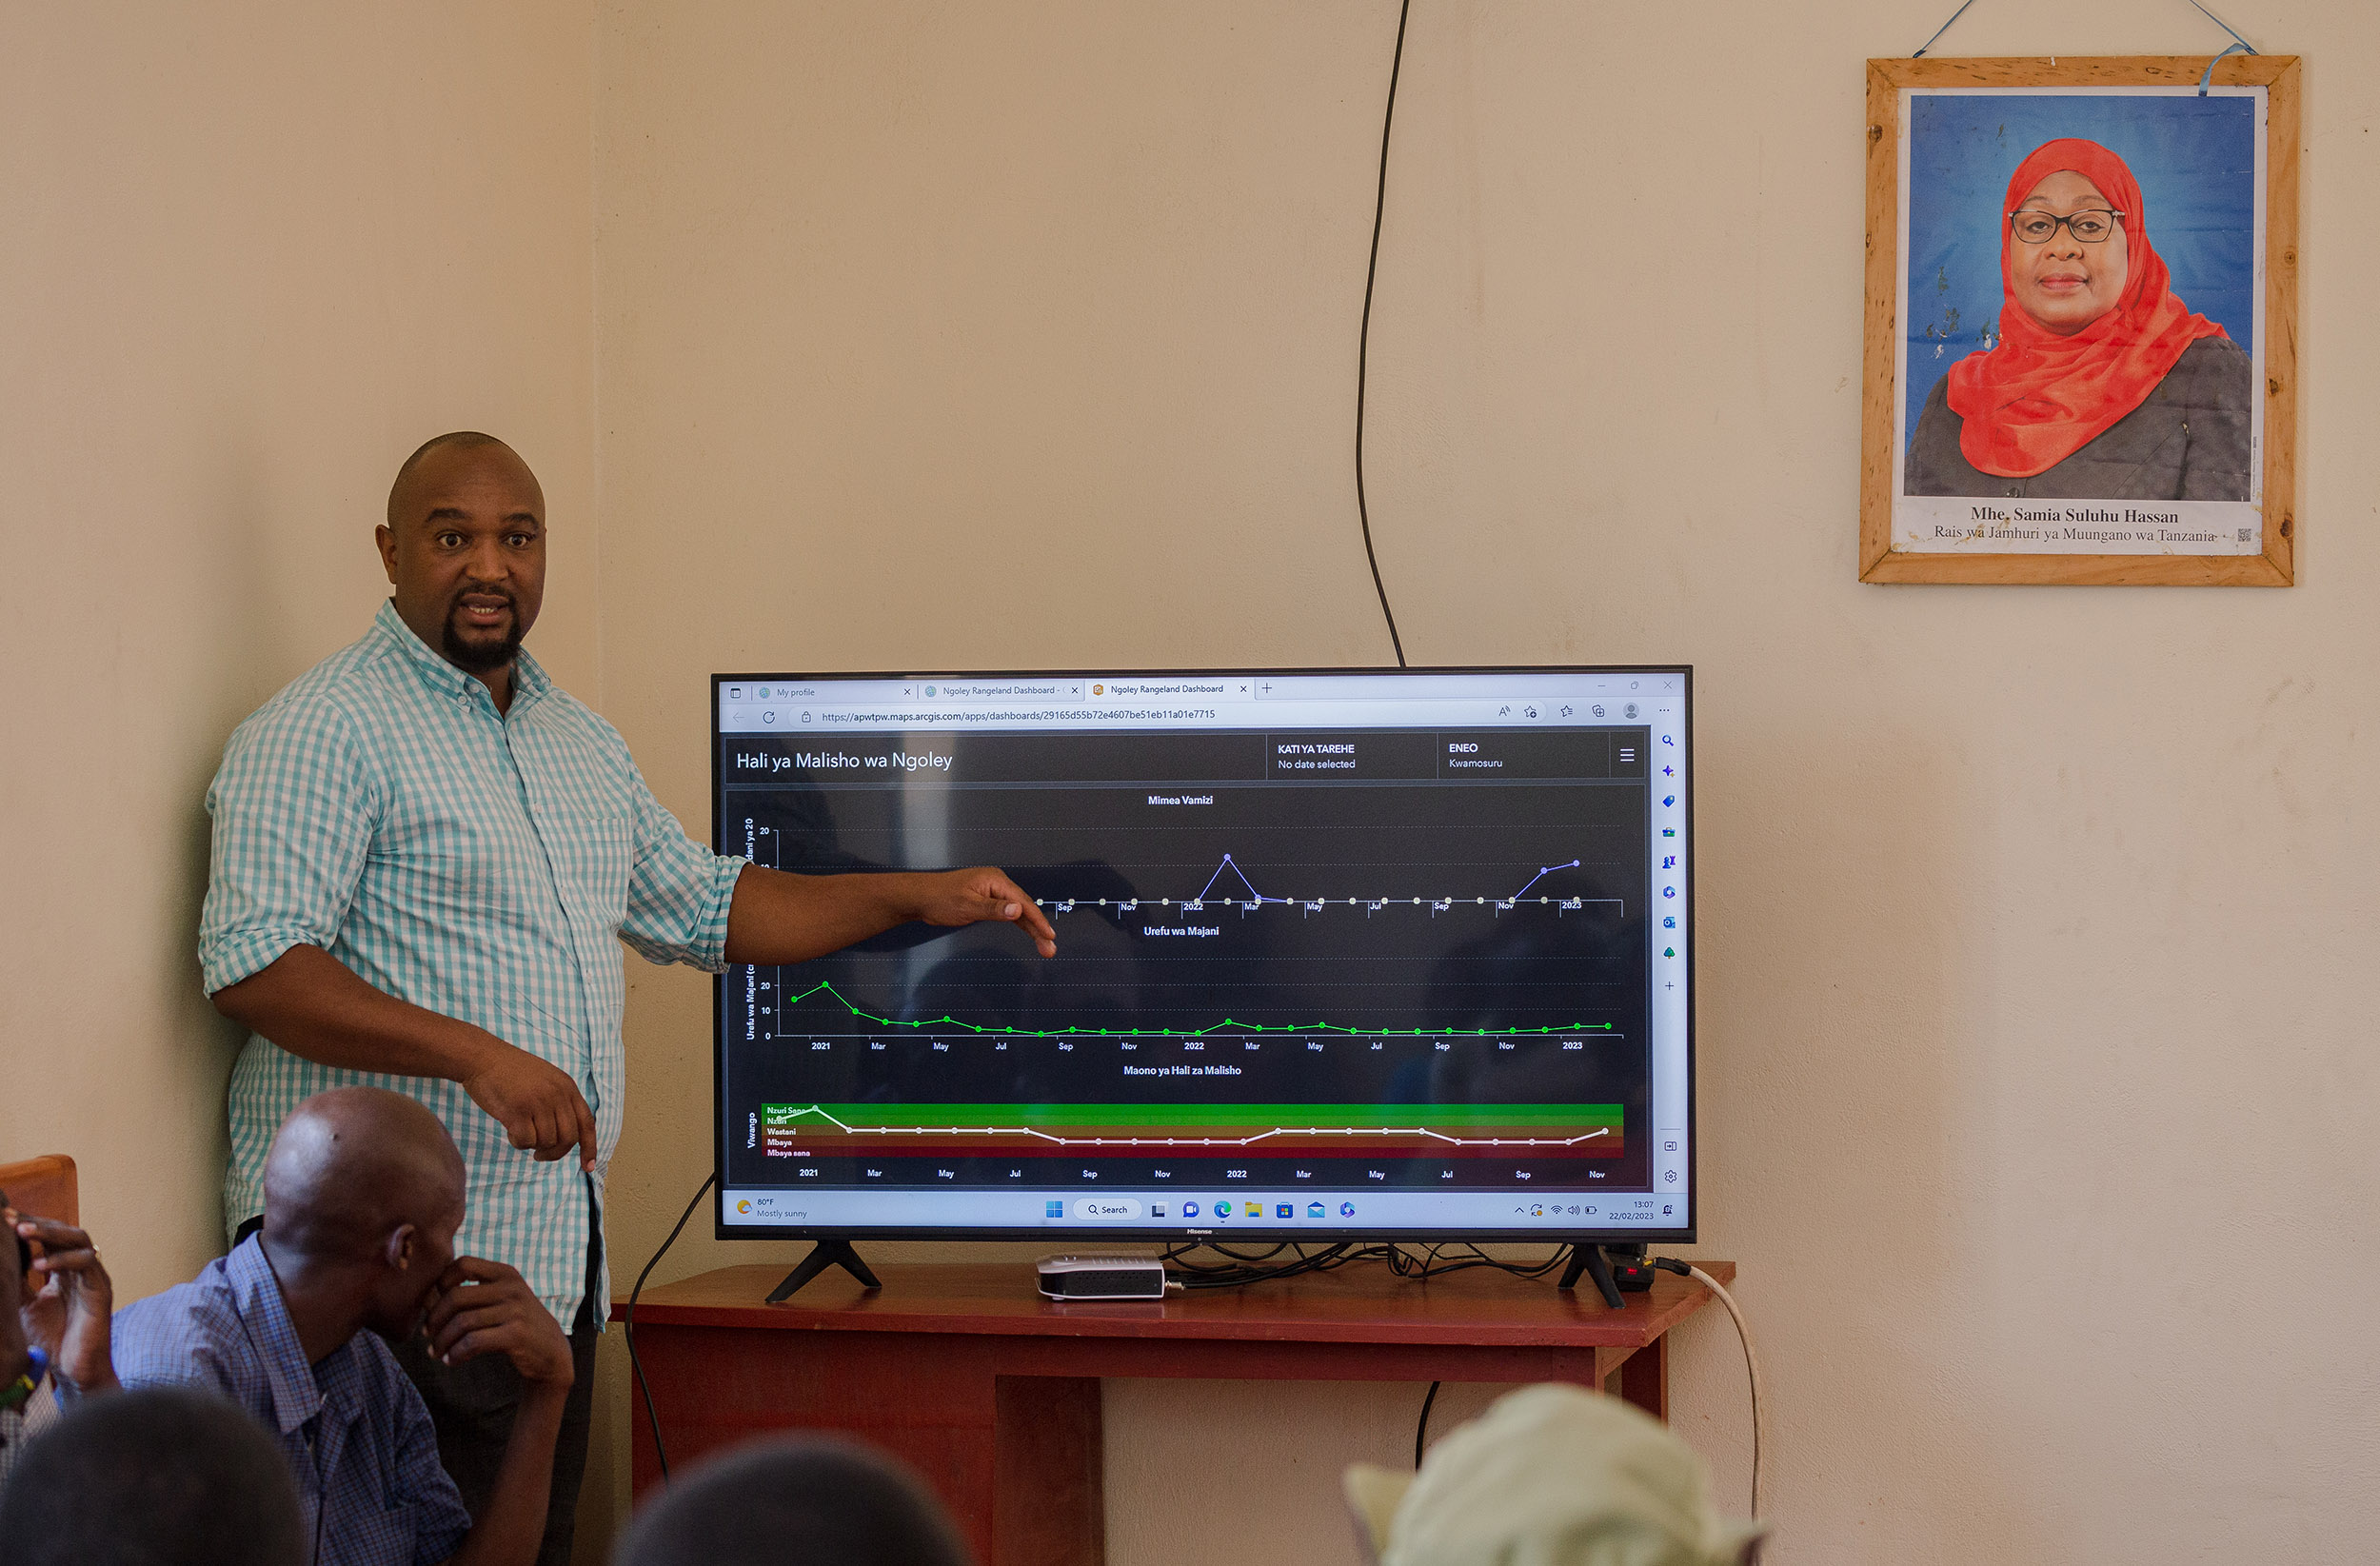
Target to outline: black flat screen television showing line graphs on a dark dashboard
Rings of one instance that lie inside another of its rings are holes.
[[[721,674],[714,845],[1004,866],[716,988],[721,1238],[1695,1238],[1692,671]]]

